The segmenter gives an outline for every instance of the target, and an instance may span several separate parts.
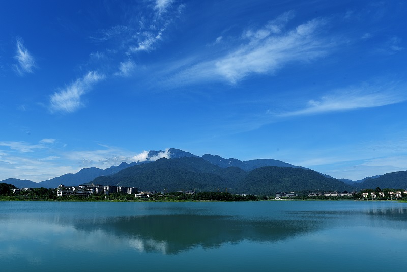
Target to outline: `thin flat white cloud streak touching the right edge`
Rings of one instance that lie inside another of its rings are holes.
[[[305,107],[279,116],[321,114],[400,103],[407,100],[406,88],[406,84],[398,82],[352,86],[335,90],[319,99],[311,99]]]

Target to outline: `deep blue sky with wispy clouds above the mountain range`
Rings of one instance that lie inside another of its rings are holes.
[[[404,1],[3,1],[0,180],[168,148],[352,180],[405,171],[406,11]]]

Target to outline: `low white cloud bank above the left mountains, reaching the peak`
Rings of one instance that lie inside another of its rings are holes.
[[[94,150],[66,151],[56,147],[53,139],[43,139],[38,144],[26,142],[0,142],[0,180],[7,178],[28,179],[35,182],[67,173],[76,173],[85,167],[101,169],[122,162],[155,161],[169,158],[168,149],[148,157],[148,151],[134,153],[117,147],[99,145]],[[24,153],[19,155],[19,153]]]

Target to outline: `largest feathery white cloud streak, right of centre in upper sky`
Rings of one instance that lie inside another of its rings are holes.
[[[287,30],[286,24],[293,17],[293,12],[286,12],[262,28],[243,32],[240,45],[215,59],[181,69],[171,80],[180,84],[202,80],[235,84],[252,74],[273,74],[290,63],[316,60],[337,45],[320,33],[326,20],[313,19]]]

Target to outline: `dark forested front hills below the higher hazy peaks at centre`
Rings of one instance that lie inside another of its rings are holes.
[[[228,188],[233,193],[274,194],[278,191],[352,191],[345,183],[307,169],[261,167],[245,172],[238,167],[221,168],[196,157],[159,159],[150,164],[126,168],[110,177],[98,177],[94,184],[132,186],[167,191],[197,189],[215,191]]]

